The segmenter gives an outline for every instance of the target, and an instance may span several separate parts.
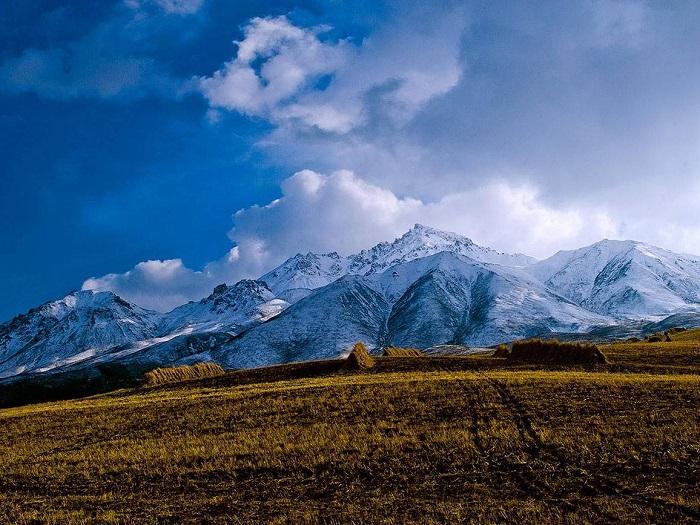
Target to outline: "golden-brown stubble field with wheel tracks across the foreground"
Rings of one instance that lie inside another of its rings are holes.
[[[0,410],[0,522],[697,523],[700,339],[378,358]]]

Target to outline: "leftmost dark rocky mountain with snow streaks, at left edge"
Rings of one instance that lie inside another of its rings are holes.
[[[0,378],[51,370],[154,337],[160,319],[111,292],[73,292],[0,325]]]

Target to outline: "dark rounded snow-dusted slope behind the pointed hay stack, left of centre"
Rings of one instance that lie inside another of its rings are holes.
[[[267,323],[214,354],[224,366],[248,368],[337,357],[353,343],[379,346],[389,305],[360,276],[345,276],[316,290]]]

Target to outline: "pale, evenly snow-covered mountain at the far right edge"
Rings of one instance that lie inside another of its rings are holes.
[[[593,312],[647,318],[700,307],[700,258],[635,241],[561,251],[528,271]]]

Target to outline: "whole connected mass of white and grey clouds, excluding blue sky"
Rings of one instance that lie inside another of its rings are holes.
[[[603,237],[698,253],[698,15],[643,0],[427,3],[361,41],[253,19],[235,57],[197,81],[207,118],[266,119],[268,158],[311,169],[237,212],[234,247],[203,269],[90,282],[163,309],[415,222],[538,257]]]

